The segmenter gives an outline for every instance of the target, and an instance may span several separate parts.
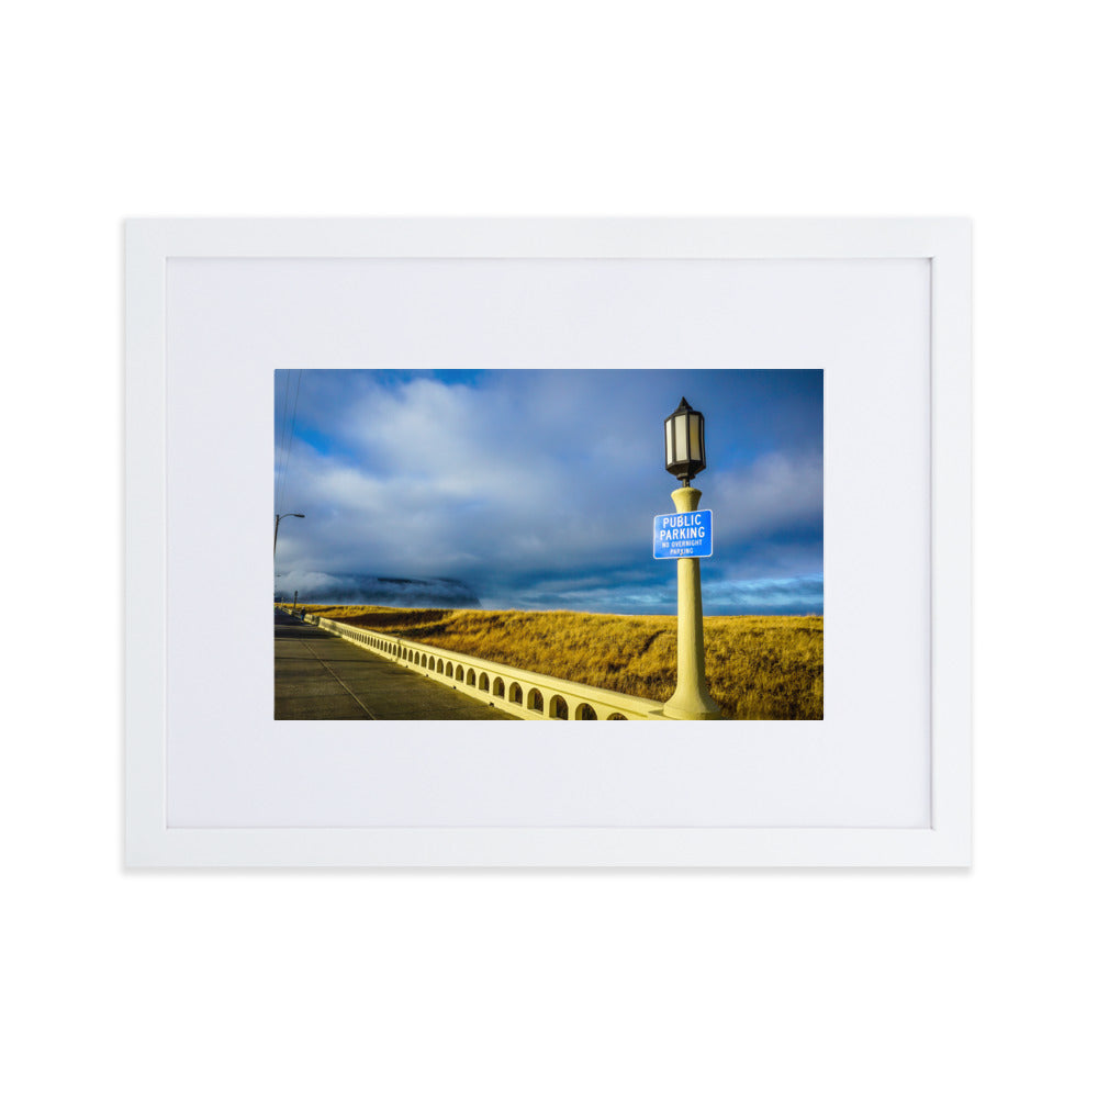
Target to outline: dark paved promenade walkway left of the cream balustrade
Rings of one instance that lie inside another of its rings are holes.
[[[276,720],[517,720],[274,612]]]

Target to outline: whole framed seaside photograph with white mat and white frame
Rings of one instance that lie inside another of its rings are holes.
[[[970,278],[956,219],[130,222],[127,864],[967,865]]]

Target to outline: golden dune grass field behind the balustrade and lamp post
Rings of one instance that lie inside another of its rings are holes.
[[[379,632],[589,686],[665,702],[675,687],[675,618],[571,610],[302,609]],[[821,617],[707,617],[709,693],[728,718],[824,717]]]

